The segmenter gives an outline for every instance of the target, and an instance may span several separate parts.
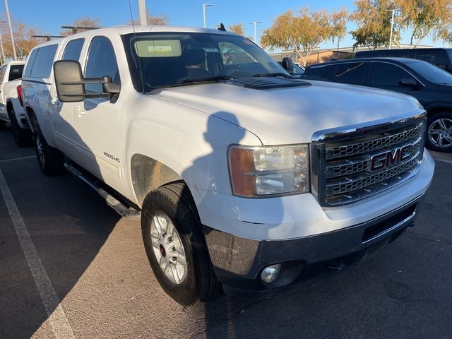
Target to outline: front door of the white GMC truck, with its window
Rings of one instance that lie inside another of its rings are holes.
[[[107,37],[93,37],[85,63],[85,78],[110,76],[120,83],[117,59]],[[101,84],[85,85],[86,93],[102,93]],[[124,97],[85,99],[73,107],[79,161],[103,182],[119,190],[124,183]]]

